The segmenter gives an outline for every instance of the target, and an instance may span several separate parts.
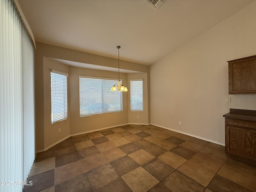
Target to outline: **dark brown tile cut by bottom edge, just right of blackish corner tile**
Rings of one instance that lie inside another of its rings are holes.
[[[92,192],[92,188],[83,173],[56,185],[55,192]]]

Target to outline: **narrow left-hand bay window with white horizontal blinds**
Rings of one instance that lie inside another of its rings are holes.
[[[51,71],[52,124],[68,117],[67,76]]]

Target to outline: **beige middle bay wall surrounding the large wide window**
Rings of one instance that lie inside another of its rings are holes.
[[[92,70],[86,68],[76,68],[70,67],[69,70],[69,82],[70,82],[70,132],[71,134],[92,131],[100,128],[107,128],[121,124],[128,123],[128,92],[123,92],[123,111],[108,113],[108,114],[98,114],[92,116],[80,117],[79,113],[79,79],[78,75],[84,76],[96,76],[96,77],[106,77],[106,78],[116,78],[118,75],[114,72]],[[127,74],[120,74],[120,79],[124,84],[127,84]]]

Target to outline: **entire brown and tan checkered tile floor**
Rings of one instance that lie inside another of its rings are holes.
[[[24,192],[256,192],[256,166],[153,125],[70,137],[40,152]]]

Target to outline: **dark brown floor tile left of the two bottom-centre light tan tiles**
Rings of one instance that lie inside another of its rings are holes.
[[[127,155],[110,162],[110,164],[114,167],[119,176],[123,176],[124,174],[140,166]]]

